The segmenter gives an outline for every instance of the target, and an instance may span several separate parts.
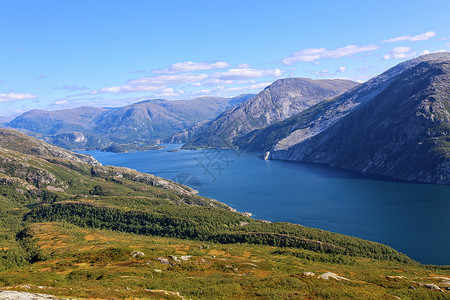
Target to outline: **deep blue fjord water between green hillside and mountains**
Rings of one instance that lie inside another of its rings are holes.
[[[450,265],[450,186],[390,182],[234,150],[85,151],[103,164],[177,179],[257,219],[286,221],[387,244]]]

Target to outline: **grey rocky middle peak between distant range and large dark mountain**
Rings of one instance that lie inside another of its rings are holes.
[[[355,87],[349,80],[286,78],[275,81],[255,97],[196,129],[185,145],[230,147],[236,138],[295,115],[323,100]]]

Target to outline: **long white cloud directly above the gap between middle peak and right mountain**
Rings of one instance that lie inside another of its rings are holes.
[[[335,50],[325,48],[309,48],[294,52],[291,56],[285,57],[281,62],[285,65],[293,65],[297,62],[317,62],[321,58],[351,57],[361,52],[374,51],[379,49],[377,45],[356,46],[348,45]]]

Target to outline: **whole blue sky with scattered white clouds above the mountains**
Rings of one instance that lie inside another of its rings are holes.
[[[450,51],[450,1],[0,0],[0,116],[364,82]]]

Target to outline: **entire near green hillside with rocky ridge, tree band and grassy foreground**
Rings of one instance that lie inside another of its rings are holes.
[[[57,147],[36,154],[25,145],[45,143],[2,134],[0,290],[108,299],[450,295],[419,285],[444,288],[435,277],[450,277],[447,267],[422,266],[379,243],[254,220],[175,182],[59,158]]]

